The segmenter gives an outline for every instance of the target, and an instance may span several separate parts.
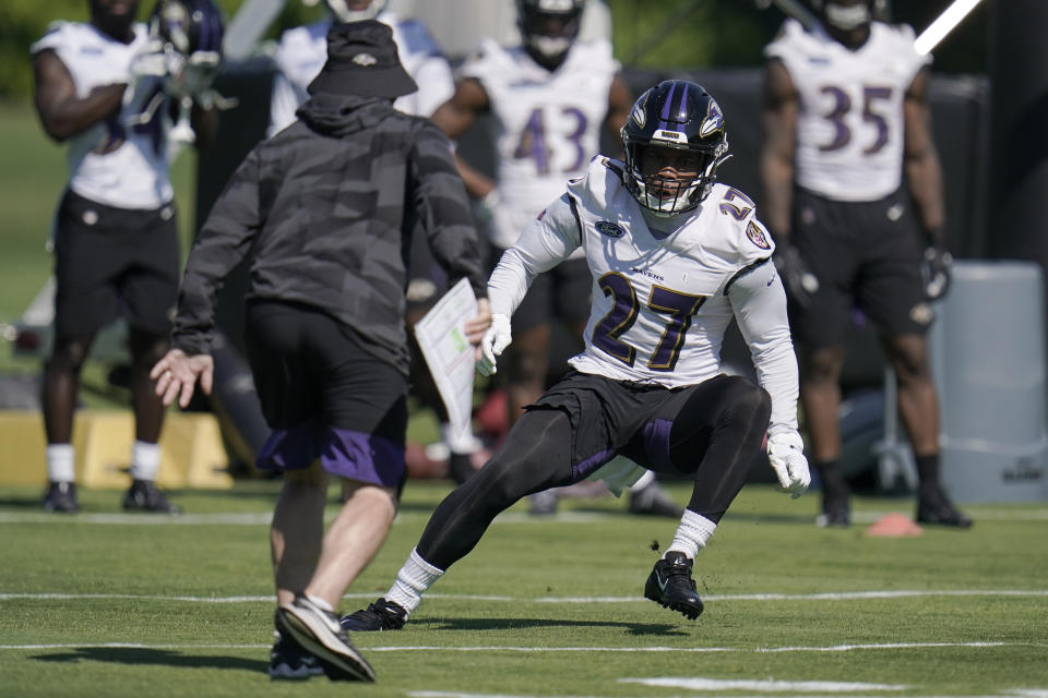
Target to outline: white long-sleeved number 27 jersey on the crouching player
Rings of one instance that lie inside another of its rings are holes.
[[[492,313],[512,316],[531,281],[582,246],[593,277],[577,371],[667,387],[720,373],[735,318],[772,397],[772,428],[797,429],[797,360],[775,245],[742,192],[714,184],[702,205],[648,219],[622,183],[623,165],[595,157],[585,177],[505,251],[488,281]],[[666,225],[663,225],[663,224]]]

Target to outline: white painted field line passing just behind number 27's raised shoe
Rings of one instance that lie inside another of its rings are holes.
[[[372,599],[374,592],[347,593],[343,599]],[[910,599],[918,597],[1048,597],[1048,589],[914,589],[891,591],[826,591],[818,593],[735,593],[711,594],[705,601],[861,601],[864,599]],[[0,601],[81,601],[88,599],[126,599],[145,601],[182,601],[187,603],[272,603],[272,595],[262,597],[180,597],[135,593],[0,593]],[[642,597],[521,597],[486,594],[426,594],[427,601],[507,601],[512,603],[633,603]]]

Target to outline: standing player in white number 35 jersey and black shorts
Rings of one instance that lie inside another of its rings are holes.
[[[823,32],[787,20],[765,48],[761,176],[798,344],[820,522],[847,526],[838,381],[853,305],[877,326],[898,381],[922,524],[970,526],[939,478],[928,301],[949,282],[942,172],[928,109],[930,58],[874,0],[819,0]],[[903,183],[905,174],[905,185]]]

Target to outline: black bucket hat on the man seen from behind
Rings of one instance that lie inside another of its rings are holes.
[[[327,62],[309,83],[311,95],[331,93],[395,99],[418,85],[396,53],[393,29],[374,20],[333,24],[327,31]]]

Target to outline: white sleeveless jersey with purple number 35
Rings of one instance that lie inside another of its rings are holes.
[[[906,25],[873,22],[857,50],[787,20],[764,48],[783,61],[799,100],[797,184],[835,201],[876,201],[898,189],[903,103],[931,62]]]

